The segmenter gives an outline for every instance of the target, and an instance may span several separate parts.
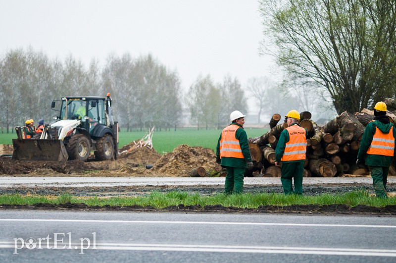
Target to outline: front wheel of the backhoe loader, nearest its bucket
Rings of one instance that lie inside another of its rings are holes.
[[[66,145],[69,160],[86,161],[90,156],[91,142],[84,134],[73,135]]]

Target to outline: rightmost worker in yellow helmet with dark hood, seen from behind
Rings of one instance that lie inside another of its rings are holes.
[[[389,121],[387,105],[378,102],[374,106],[374,120],[364,130],[357,153],[356,164],[365,163],[369,166],[376,197],[387,198],[387,179],[392,157],[395,155],[396,131]]]

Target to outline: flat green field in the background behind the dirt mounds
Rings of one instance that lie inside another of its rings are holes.
[[[268,131],[268,129],[246,128],[247,137],[261,136]],[[126,132],[121,129],[119,133],[119,145],[121,148],[132,141],[142,139],[147,131],[132,131]],[[173,149],[181,144],[189,146],[202,146],[216,151],[217,140],[219,139],[221,131],[216,129],[196,129],[196,128],[179,128],[176,131],[154,131],[152,136],[153,148],[160,154],[172,152]],[[0,144],[12,144],[12,139],[16,138],[15,133],[0,134]]]

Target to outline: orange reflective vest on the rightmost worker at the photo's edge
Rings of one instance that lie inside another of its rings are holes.
[[[369,155],[393,156],[395,151],[395,138],[393,137],[393,126],[389,133],[383,133],[375,126],[373,141],[367,150]]]

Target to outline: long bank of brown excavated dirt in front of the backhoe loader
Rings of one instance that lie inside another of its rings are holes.
[[[117,160],[96,161],[92,155],[88,161],[18,161],[8,156],[0,157],[0,175],[26,174],[29,176],[188,176],[198,167],[207,172],[216,165],[213,150],[181,145],[171,153],[161,156],[153,148],[140,147],[132,142],[120,150]],[[11,152],[12,154],[12,152]],[[153,166],[151,169],[147,169]]]

